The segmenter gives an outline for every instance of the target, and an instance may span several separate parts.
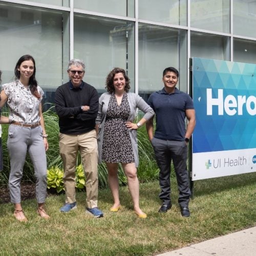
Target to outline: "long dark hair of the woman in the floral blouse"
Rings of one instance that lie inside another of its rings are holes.
[[[15,69],[14,69],[14,74],[15,74],[16,79],[19,79],[20,72],[18,71],[18,68],[20,67],[20,65],[22,65],[22,62],[26,61],[26,60],[32,60],[33,63],[34,63],[34,72],[33,72],[33,75],[29,78],[29,86],[30,86],[31,93],[36,98],[39,99],[41,96],[40,96],[40,94],[37,91],[37,81],[35,79],[35,71],[36,71],[35,60],[34,60],[34,58],[31,55],[27,54],[27,55],[23,55],[22,57],[19,58],[19,60],[16,63]]]

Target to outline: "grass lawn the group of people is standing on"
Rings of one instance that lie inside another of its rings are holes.
[[[256,225],[256,173],[195,182],[190,218],[181,217],[172,182],[173,207],[166,214],[157,212],[158,182],[140,184],[146,219],[133,212],[127,187],[120,188],[118,212],[109,211],[110,190],[99,191],[100,219],[85,213],[82,192],[78,208],[68,214],[59,212],[64,195],[48,197],[50,220],[36,215],[35,200],[23,202],[27,223],[14,219],[11,203],[0,204],[0,255],[154,255]]]

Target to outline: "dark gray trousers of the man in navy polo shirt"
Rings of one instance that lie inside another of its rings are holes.
[[[187,172],[187,145],[185,141],[152,139],[159,172],[161,192],[159,198],[165,204],[170,204],[170,164],[173,160],[178,188],[180,206],[187,206],[191,195]]]

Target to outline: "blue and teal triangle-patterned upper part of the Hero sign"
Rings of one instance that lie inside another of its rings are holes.
[[[256,148],[256,65],[193,58],[192,82],[197,119],[193,152]],[[207,89],[211,90],[212,100],[218,99],[218,90],[223,93],[222,104],[219,99],[219,105],[208,106],[212,115],[207,115]],[[250,104],[243,102],[249,97]]]

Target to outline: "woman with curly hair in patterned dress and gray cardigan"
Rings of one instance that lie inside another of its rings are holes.
[[[114,68],[106,78],[108,91],[100,96],[96,119],[98,131],[99,163],[103,160],[108,168],[108,180],[114,198],[111,211],[120,208],[118,163],[122,164],[132,196],[134,210],[139,218],[146,214],[139,206],[139,165],[137,129],[154,116],[154,111],[137,94],[130,93],[130,80],[125,71]],[[145,114],[134,123],[137,108]]]

